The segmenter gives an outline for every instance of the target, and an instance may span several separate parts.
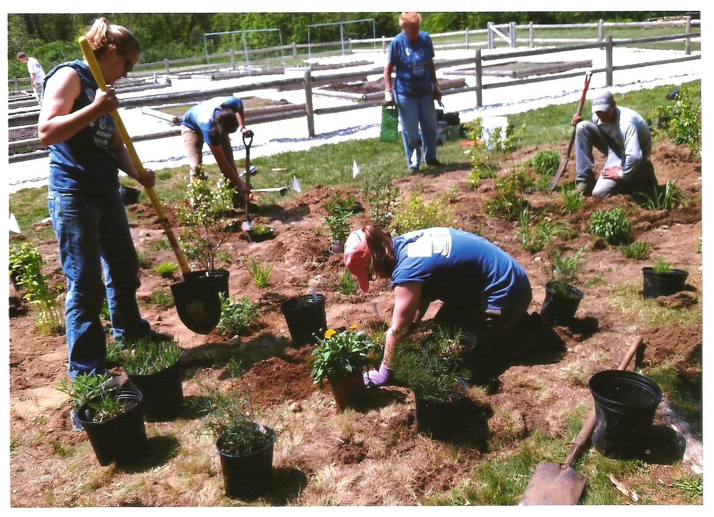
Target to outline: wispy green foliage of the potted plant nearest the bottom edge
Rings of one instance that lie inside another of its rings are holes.
[[[218,448],[231,456],[246,456],[261,451],[273,443],[273,434],[256,423],[256,409],[250,399],[248,384],[241,379],[226,391],[219,385],[200,384],[201,426],[194,436],[210,436]]]

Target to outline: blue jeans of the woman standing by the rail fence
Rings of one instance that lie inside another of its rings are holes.
[[[424,146],[425,161],[436,160],[438,126],[434,94],[430,92],[421,97],[408,97],[395,92],[394,97],[399,107],[399,123],[402,126],[407,166],[411,169],[418,168],[421,162],[420,145]],[[416,156],[414,156],[415,150]]]

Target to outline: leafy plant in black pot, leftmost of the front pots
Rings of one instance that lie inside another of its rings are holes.
[[[111,374],[81,374],[71,383],[63,379],[59,387],[69,395],[102,466],[139,461],[149,446],[141,391],[111,387],[111,378]]]

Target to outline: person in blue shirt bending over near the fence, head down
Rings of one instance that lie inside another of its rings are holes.
[[[246,137],[253,135],[243,119],[243,101],[232,95],[198,103],[181,118],[181,138],[191,167],[191,180],[196,177],[198,165],[203,163],[203,142],[206,142],[223,176],[243,196],[242,200],[234,200],[235,206],[242,205],[244,196],[250,195],[250,189],[238,175],[233,160],[230,135],[238,129]]]

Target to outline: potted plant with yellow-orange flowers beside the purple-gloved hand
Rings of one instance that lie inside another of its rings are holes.
[[[341,332],[327,329],[325,337],[318,338],[318,344],[310,357],[313,364],[311,377],[321,387],[325,380],[330,383],[340,408],[356,402],[359,392],[364,389],[362,369],[374,348],[367,333],[356,332],[356,327],[352,325]]]

